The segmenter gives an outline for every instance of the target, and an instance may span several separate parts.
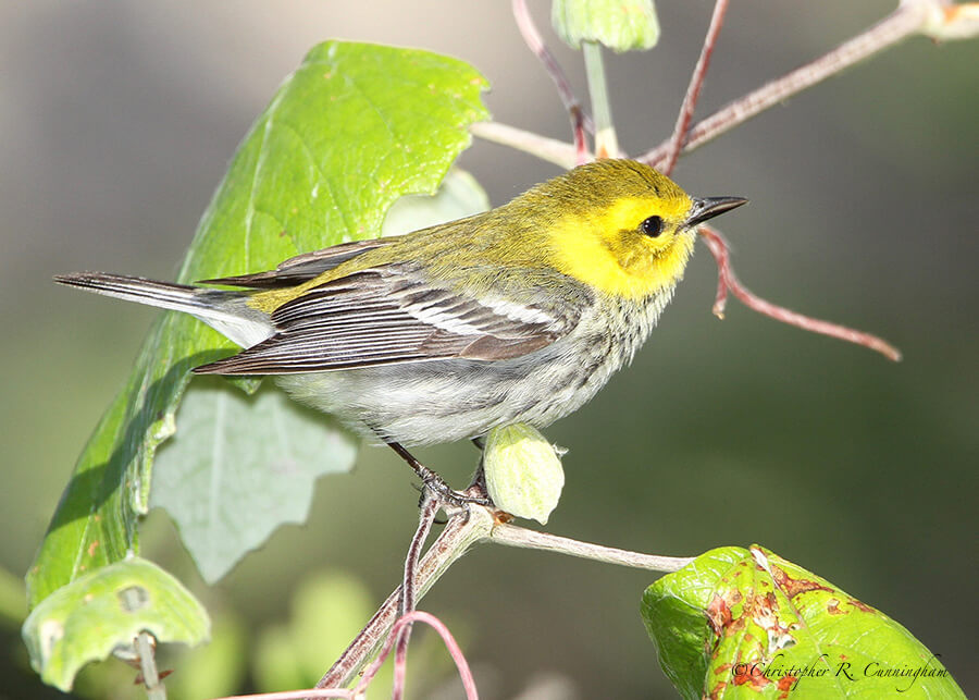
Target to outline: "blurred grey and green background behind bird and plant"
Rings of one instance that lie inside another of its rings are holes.
[[[608,57],[629,152],[671,131],[711,4],[660,2],[659,46]],[[697,113],[822,53],[893,5],[736,3]],[[580,56],[550,33],[547,3],[532,10],[586,101]],[[0,2],[5,572],[21,577],[28,567],[153,314],[58,288],[51,275],[171,278],[250,122],[327,38],[469,61],[493,85],[486,102],[496,120],[569,138],[506,2]],[[977,65],[979,42],[915,38],[681,160],[674,174],[689,192],[751,198],[721,223],[749,287],[877,332],[905,360],[780,326],[733,300],[718,321],[716,269],[702,250],[632,368],[547,430],[570,449],[549,531],[674,555],[759,542],[900,621],[967,693],[979,692],[968,602],[979,464]],[[557,173],[479,142],[460,163],[494,205]],[[454,445],[420,456],[461,486],[476,455]],[[314,622],[337,648],[307,650],[314,676],[325,671],[398,581],[416,519],[410,483],[393,453],[365,449],[352,475],[320,480],[306,526],[278,530],[213,588],[200,582],[165,514],[152,513],[142,553],[208,604],[219,641],[200,653],[238,684],[195,683],[190,697],[263,687],[275,674],[262,671],[271,650],[284,649],[275,640],[317,604],[329,612],[342,590],[343,600],[359,601],[339,605],[349,619]],[[460,635],[487,698],[670,698],[639,616],[652,580],[485,547],[422,606]],[[58,695],[27,670],[15,619],[3,623],[2,639],[0,697]],[[424,688],[414,697],[458,697],[448,662],[434,641],[423,643],[435,651],[410,666]],[[173,688],[191,663],[173,661]],[[278,680],[292,683],[283,663]],[[139,697],[132,677],[113,662],[86,674],[78,692]]]

